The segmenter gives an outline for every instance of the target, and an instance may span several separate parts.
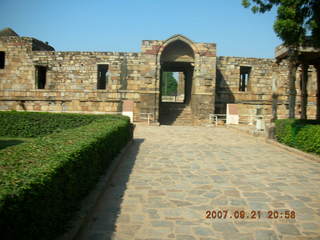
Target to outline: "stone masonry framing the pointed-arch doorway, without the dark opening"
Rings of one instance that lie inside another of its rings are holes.
[[[191,48],[183,49],[176,42],[186,43]],[[181,35],[174,35],[166,41],[144,40],[141,47],[141,59],[144,69],[141,75],[148,76],[146,86],[149,94],[141,101],[144,108],[155,109],[158,114],[160,94],[161,59],[165,61],[191,62],[194,66],[191,91],[191,108],[193,115],[207,120],[214,111],[214,95],[216,84],[216,45],[214,43],[194,43]],[[154,92],[153,92],[154,91]],[[155,94],[155,96],[154,96]],[[156,116],[158,118],[158,116]]]

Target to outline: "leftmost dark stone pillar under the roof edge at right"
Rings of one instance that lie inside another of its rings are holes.
[[[295,61],[289,59],[289,118],[295,118],[296,110],[296,72],[298,65]]]

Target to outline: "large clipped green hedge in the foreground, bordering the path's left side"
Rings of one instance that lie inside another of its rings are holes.
[[[100,116],[0,151],[2,239],[54,239],[66,230],[81,199],[132,139],[129,119],[114,119]]]

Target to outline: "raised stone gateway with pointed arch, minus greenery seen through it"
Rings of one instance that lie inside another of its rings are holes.
[[[143,41],[142,73],[148,93],[141,96],[141,110],[154,112],[161,123],[208,119],[214,112],[216,71],[215,44],[194,43],[182,35],[165,41]],[[182,102],[164,102],[161,96],[164,72],[180,72],[184,78]],[[189,113],[183,114],[183,113]],[[183,123],[183,122],[182,122]]]

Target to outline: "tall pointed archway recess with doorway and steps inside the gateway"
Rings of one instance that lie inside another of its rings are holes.
[[[192,125],[192,93],[195,49],[187,38],[177,35],[167,40],[158,54],[160,64],[159,122],[166,125]],[[169,74],[171,73],[171,74]],[[178,76],[177,93],[165,95],[165,78]]]

